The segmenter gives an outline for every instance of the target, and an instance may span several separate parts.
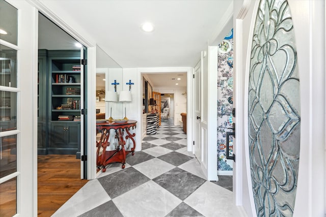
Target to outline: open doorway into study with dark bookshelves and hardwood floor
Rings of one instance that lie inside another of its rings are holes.
[[[38,23],[38,213],[49,216],[87,182],[86,49],[41,13]]]

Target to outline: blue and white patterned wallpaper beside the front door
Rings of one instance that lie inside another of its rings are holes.
[[[218,54],[218,170],[231,170],[226,159],[226,132],[231,132],[233,104],[233,29],[219,45]],[[230,155],[232,152],[230,140]]]

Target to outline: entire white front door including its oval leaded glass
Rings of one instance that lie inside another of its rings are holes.
[[[323,216],[325,165],[320,162],[325,159],[325,4],[309,0],[235,1],[234,14],[236,216]],[[257,14],[262,21],[255,25]],[[255,26],[261,26],[262,34],[253,37]],[[259,73],[250,76],[255,72],[255,49],[260,47],[266,49],[256,56]],[[276,58],[278,52],[284,55],[280,59]],[[270,95],[274,96],[271,100]],[[280,106],[279,111],[276,106]],[[281,116],[283,121],[276,120]],[[261,132],[266,129],[270,134]],[[271,149],[261,145],[268,140],[273,141]],[[250,153],[256,166],[266,165],[264,170],[252,165]],[[255,170],[258,173],[253,173]],[[282,180],[277,173],[284,173]],[[257,180],[266,180],[269,185],[258,186]],[[259,194],[265,194],[260,204]]]

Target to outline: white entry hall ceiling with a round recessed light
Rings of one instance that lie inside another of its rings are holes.
[[[206,49],[218,33],[222,31],[220,35],[225,36],[232,28],[231,24],[229,29],[221,29],[229,21],[226,19],[230,19],[232,0],[39,2],[53,13],[69,17],[71,23],[80,24],[123,68],[194,67],[200,59],[200,51]],[[154,24],[154,32],[141,30],[145,21]],[[41,44],[51,43],[52,47],[61,49],[61,43],[56,42],[60,37],[53,31],[44,31],[43,39]],[[65,40],[64,48],[73,44]]]

